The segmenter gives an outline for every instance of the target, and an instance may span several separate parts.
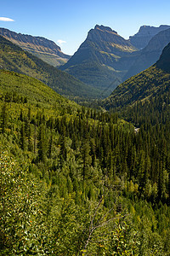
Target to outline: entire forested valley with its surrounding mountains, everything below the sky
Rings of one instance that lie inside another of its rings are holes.
[[[169,26],[125,40],[96,25],[60,67],[38,58],[41,38],[7,34],[0,255],[168,256]]]

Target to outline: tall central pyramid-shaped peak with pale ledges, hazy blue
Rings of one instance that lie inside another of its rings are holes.
[[[133,63],[133,57],[128,57],[136,51],[110,27],[96,25],[71,59],[59,68],[109,94],[127,73]]]

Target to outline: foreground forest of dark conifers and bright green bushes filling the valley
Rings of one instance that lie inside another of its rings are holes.
[[[139,132],[0,72],[0,254],[169,255],[170,125]]]

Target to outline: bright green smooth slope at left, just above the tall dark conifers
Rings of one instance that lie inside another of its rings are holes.
[[[75,102],[60,96],[48,85],[25,74],[0,70],[0,88],[0,98],[4,98],[6,102],[23,100],[31,106],[38,105],[39,108],[54,110],[62,110],[64,106],[77,108]]]

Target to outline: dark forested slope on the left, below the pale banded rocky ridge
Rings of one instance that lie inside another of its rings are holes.
[[[95,97],[99,93],[68,73],[63,73],[20,49],[3,37],[0,37],[0,67],[39,79],[63,96]]]

